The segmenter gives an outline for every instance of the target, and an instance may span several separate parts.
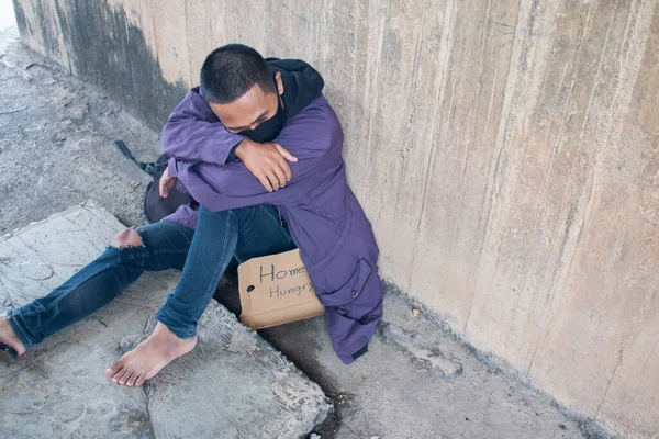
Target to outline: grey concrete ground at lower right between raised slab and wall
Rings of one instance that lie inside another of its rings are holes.
[[[332,350],[322,318],[261,330],[336,403],[323,438],[604,438],[521,376],[481,358],[432,314],[414,316],[388,289],[384,323],[369,353],[349,368]]]

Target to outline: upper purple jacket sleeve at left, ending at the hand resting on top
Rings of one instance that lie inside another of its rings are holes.
[[[190,90],[165,123],[163,150],[189,162],[224,165],[245,137],[230,133],[198,90]]]

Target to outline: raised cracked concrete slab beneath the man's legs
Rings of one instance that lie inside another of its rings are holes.
[[[11,308],[49,292],[123,228],[88,202],[0,238],[0,303]],[[323,421],[331,405],[317,384],[216,303],[191,353],[141,389],[112,384],[103,371],[150,334],[177,280],[174,270],[146,273],[100,312],[0,365],[0,431],[298,438]]]

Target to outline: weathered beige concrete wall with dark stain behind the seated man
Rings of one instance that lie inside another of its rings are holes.
[[[657,0],[15,0],[159,127],[243,42],[326,79],[382,273],[560,402],[659,431]]]

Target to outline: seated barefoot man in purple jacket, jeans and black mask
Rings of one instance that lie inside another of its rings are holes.
[[[299,247],[335,351],[345,363],[366,352],[382,313],[378,248],[347,185],[343,133],[322,87],[299,60],[266,63],[235,44],[211,53],[200,88],[163,131],[172,158],[161,194],[177,184],[199,211],[180,206],[160,223],[121,232],[62,286],[1,317],[5,350],[23,353],[144,271],[176,268],[181,279],[154,333],[107,370],[115,383],[141,385],[194,348],[197,322],[233,257],[242,262]]]

